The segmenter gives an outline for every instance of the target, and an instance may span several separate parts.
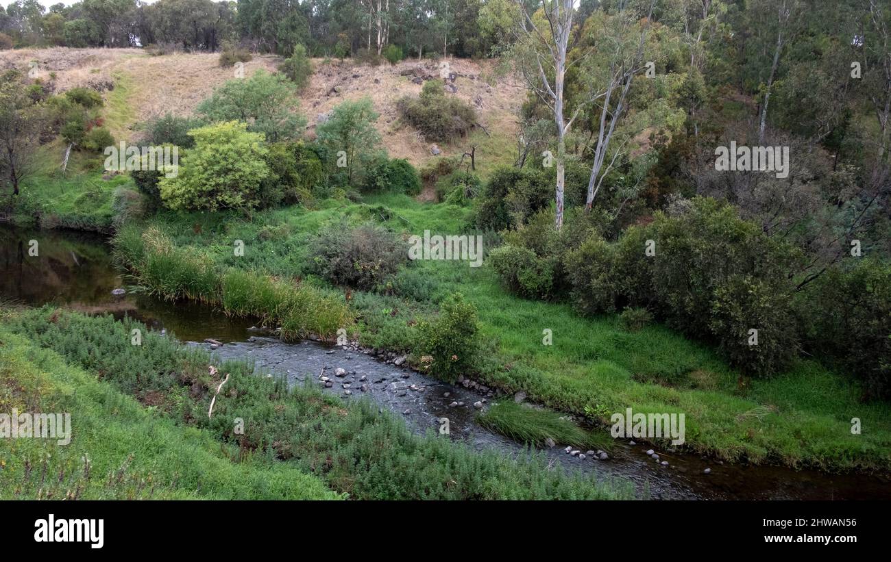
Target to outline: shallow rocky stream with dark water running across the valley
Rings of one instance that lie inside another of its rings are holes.
[[[37,241],[36,256],[29,255],[31,240]],[[53,303],[87,313],[136,317],[155,329],[167,329],[182,341],[213,338],[224,343],[215,350],[219,357],[250,357],[257,369],[284,373],[293,381],[329,377],[333,385],[326,391],[347,400],[369,397],[381,408],[403,416],[418,432],[437,430],[438,420],[445,417],[453,439],[504,454],[525,451],[523,446],[478,426],[473,403],[486,397],[473,390],[433,381],[356,349],[331,348],[314,341],[286,344],[256,337],[248,329],[249,320],[228,318],[201,305],[158,301],[138,293],[111,293],[126,285],[127,279],[115,269],[102,237],[0,226],[0,300]],[[339,367],[346,370],[345,376],[335,376]],[[463,405],[450,406],[453,402]],[[607,461],[579,460],[560,447],[544,450],[544,454],[554,464],[591,472],[596,478],[630,480],[639,490],[659,499],[891,499],[887,478],[721,464],[652,447],[660,460],[669,462],[665,467],[644,453],[649,448],[619,441]],[[711,473],[705,474],[706,469]]]

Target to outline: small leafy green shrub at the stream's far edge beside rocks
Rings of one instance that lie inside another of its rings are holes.
[[[479,342],[477,308],[461,293],[449,295],[439,316],[418,325],[415,354],[421,368],[443,381],[477,371]]]

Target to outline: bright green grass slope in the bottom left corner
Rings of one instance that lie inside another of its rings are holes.
[[[0,439],[0,499],[336,499],[319,478],[239,455],[0,329],[0,412],[70,413],[71,440]]]

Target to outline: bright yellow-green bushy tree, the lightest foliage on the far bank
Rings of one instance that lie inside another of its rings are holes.
[[[259,188],[269,174],[263,133],[236,121],[211,124],[189,134],[195,148],[185,152],[175,177],[159,182],[161,199],[173,210],[246,211],[259,205]]]

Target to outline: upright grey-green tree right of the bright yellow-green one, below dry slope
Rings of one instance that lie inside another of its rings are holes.
[[[353,185],[356,165],[368,162],[380,151],[380,133],[374,128],[377,120],[371,98],[363,98],[344,101],[315,129],[319,141],[337,158],[337,166],[345,168],[349,185]]]

